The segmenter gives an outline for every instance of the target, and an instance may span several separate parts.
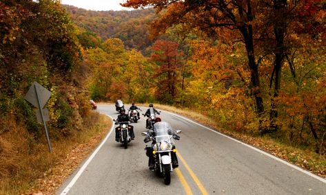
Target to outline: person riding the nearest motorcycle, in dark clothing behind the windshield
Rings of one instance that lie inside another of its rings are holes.
[[[158,118],[157,121],[161,122],[161,119]],[[147,143],[148,141],[150,141],[150,137],[152,137],[154,135],[155,132],[155,128],[154,130],[150,129],[148,130],[148,134],[146,135],[144,142]],[[180,139],[179,135],[176,135],[176,133],[174,133],[172,131],[172,129],[168,130],[169,135],[173,135],[174,139]],[[150,170],[154,170],[155,166],[155,161],[154,161],[154,156],[153,156],[153,145],[155,144],[155,141],[152,142],[152,144],[150,146],[146,147],[146,155],[148,157],[148,166],[150,167]],[[172,150],[175,149],[176,147],[173,146]],[[175,152],[171,152],[171,160],[172,160],[172,168],[177,168],[179,167],[179,163],[178,163],[178,158],[176,158],[176,153]]]

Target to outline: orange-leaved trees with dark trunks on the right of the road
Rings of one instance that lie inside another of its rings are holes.
[[[219,110],[220,120],[241,119],[241,128],[277,133],[292,143],[294,139],[307,141],[309,136],[319,145],[324,142],[320,137],[325,137],[325,106],[312,114],[315,106],[310,104],[324,102],[320,97],[325,90],[314,91],[320,89],[320,80],[325,78],[314,71],[318,68],[325,74],[325,60],[319,58],[325,58],[323,1],[128,0],[123,5],[156,8],[159,18],[151,24],[153,36],[179,28],[212,38],[211,43],[192,43],[192,56],[187,62],[192,73],[187,80],[187,100],[201,97]],[[212,49],[216,49],[214,54]],[[220,55],[218,61],[214,60]],[[309,87],[305,87],[307,83]],[[310,96],[316,101],[310,101],[309,106],[305,102],[308,91],[316,94]],[[254,109],[247,98],[254,100]],[[236,109],[230,109],[232,105]]]

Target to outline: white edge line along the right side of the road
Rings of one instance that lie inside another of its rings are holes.
[[[242,141],[238,141],[237,139],[234,139],[234,138],[232,138],[232,137],[230,137],[230,136],[224,135],[223,133],[219,133],[218,131],[213,130],[212,128],[208,128],[207,126],[203,126],[202,124],[199,124],[199,123],[197,123],[197,122],[194,122],[194,121],[192,121],[191,119],[187,119],[186,117],[183,117],[183,116],[181,116],[181,115],[178,115],[178,114],[175,114],[175,113],[171,113],[171,112],[169,112],[169,111],[165,111],[165,112],[170,113],[170,114],[172,114],[172,115],[175,115],[175,116],[177,116],[177,117],[181,117],[181,118],[183,118],[183,119],[185,119],[185,120],[187,120],[187,121],[189,121],[189,122],[192,122],[192,123],[194,123],[194,124],[196,124],[196,125],[198,125],[198,126],[201,126],[201,127],[203,127],[203,128],[206,128],[206,129],[208,129],[208,130],[212,130],[212,132],[217,133],[218,135],[222,135],[222,136],[224,136],[224,137],[227,137],[227,138],[229,138],[229,139],[232,139],[233,141],[236,141],[236,142],[238,142],[238,143],[240,143],[240,144],[243,144],[243,145],[247,146],[248,148],[252,148],[253,150],[256,150],[257,152],[261,152],[262,154],[265,154],[267,157],[270,157],[270,158],[272,158],[272,159],[275,159],[276,161],[279,161],[279,162],[281,162],[281,163],[283,163],[283,164],[285,164],[285,165],[288,165],[288,166],[290,166],[291,168],[294,168],[294,169],[296,169],[296,170],[298,170],[298,171],[300,171],[300,172],[303,172],[303,173],[305,173],[305,174],[307,174],[307,175],[309,175],[309,176],[312,176],[314,179],[318,179],[319,181],[321,181],[321,182],[323,182],[323,183],[326,183],[326,179],[323,179],[322,177],[317,176],[316,174],[312,174],[311,172],[308,172],[307,170],[303,170],[302,168],[299,168],[298,166],[293,165],[292,163],[289,163],[289,162],[287,162],[287,161],[284,161],[283,159],[280,159],[280,158],[278,158],[278,157],[275,157],[275,156],[273,156],[272,154],[269,154],[269,153],[267,153],[267,152],[264,152],[263,150],[259,150],[258,148],[255,148],[254,146],[250,146],[250,145],[248,145],[248,144],[243,143]]]

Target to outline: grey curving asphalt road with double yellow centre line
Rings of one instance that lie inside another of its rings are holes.
[[[98,111],[118,115],[113,104]],[[170,185],[147,168],[141,116],[128,149],[114,141],[112,130],[57,194],[326,194],[325,179],[185,117],[162,111],[161,118],[182,130]]]

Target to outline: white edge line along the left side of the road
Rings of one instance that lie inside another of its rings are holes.
[[[110,117],[112,119],[112,117],[110,115],[107,115],[108,117]],[[90,157],[88,157],[87,161],[85,161],[85,163],[83,164],[83,166],[81,167],[81,169],[77,172],[77,174],[74,176],[74,178],[72,179],[72,181],[70,181],[70,183],[67,185],[67,187],[65,187],[65,190],[63,190],[61,192],[60,195],[65,195],[69,192],[69,190],[72,188],[72,186],[74,185],[74,183],[76,183],[76,181],[79,179],[79,176],[81,176],[81,174],[83,173],[83,171],[86,169],[86,167],[88,166],[88,164],[90,163],[90,161],[92,161],[92,159],[95,157],[96,153],[99,152],[99,150],[101,149],[101,147],[103,146],[103,144],[105,143],[105,141],[108,140],[108,138],[110,137],[112,131],[113,131],[114,125],[112,125],[110,132],[108,133],[108,135],[106,135],[105,139],[103,139],[102,143],[96,148],[96,150],[92,153],[92,155],[90,155]]]

